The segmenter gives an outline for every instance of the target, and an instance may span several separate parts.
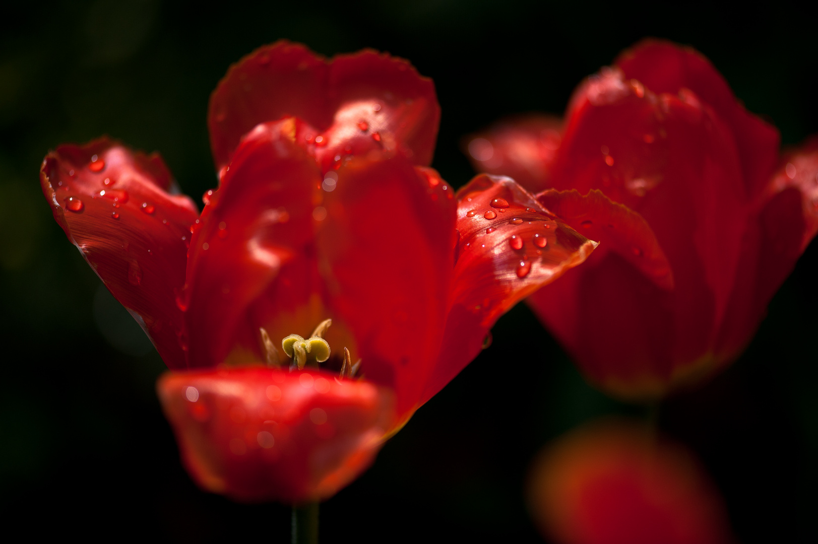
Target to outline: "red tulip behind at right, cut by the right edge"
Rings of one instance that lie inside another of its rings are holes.
[[[659,398],[739,356],[818,229],[818,140],[779,155],[698,52],[647,40],[574,93],[564,124],[498,124],[475,167],[511,173],[600,241],[528,299],[609,393]]]

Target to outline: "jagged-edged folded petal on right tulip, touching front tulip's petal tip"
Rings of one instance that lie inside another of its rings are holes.
[[[640,214],[596,189],[586,196],[575,189],[551,189],[537,195],[537,200],[584,236],[600,241],[600,250],[615,251],[659,287],[673,289],[670,263],[653,229]]]

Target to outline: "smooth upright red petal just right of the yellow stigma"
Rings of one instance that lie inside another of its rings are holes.
[[[402,155],[338,170],[317,232],[330,305],[354,330],[367,380],[414,407],[440,349],[455,244],[454,191]]]

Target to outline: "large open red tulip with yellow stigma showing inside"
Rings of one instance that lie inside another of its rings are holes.
[[[456,199],[425,167],[438,118],[406,61],[276,43],[213,92],[219,187],[199,217],[157,156],[102,139],[46,157],[56,220],[180,371],[158,389],[203,488],[329,497],[502,312],[592,250],[510,180]]]

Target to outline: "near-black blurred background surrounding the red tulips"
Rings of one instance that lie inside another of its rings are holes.
[[[39,191],[57,144],[107,133],[159,150],[198,198],[215,185],[209,92],[277,38],[326,55],[375,47],[432,77],[443,106],[434,166],[455,186],[473,174],[465,133],[510,113],[560,114],[580,79],[649,35],[697,47],[785,144],[818,132],[815,25],[788,2],[17,3],[0,7],[0,508],[6,528],[32,536],[289,539],[284,506],[238,506],[182,470],[153,389],[163,363]],[[659,412],[699,453],[742,542],[818,542],[816,272],[813,244],[739,362]],[[528,462],[606,413],[643,409],[589,388],[519,305],[322,506],[322,541],[542,542],[524,506]]]

